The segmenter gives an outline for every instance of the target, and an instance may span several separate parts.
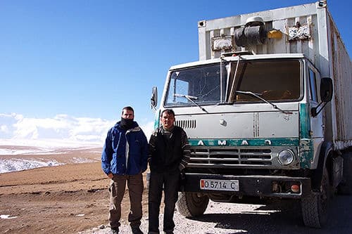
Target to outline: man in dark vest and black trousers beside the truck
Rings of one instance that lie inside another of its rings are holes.
[[[159,212],[161,195],[164,190],[163,230],[173,233],[175,203],[180,187],[180,171],[189,160],[187,134],[175,126],[175,112],[171,109],[161,113],[161,124],[149,141],[149,233],[159,233]]]

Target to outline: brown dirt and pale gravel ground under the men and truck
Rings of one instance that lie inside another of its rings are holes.
[[[0,174],[0,233],[109,233],[108,183],[99,162]],[[146,190],[143,205],[146,233]],[[129,207],[125,196],[122,234],[130,233]],[[303,226],[298,203],[280,207],[282,202],[266,206],[210,202],[197,219],[175,212],[175,233],[351,233],[352,196],[334,197],[327,226],[320,230]]]

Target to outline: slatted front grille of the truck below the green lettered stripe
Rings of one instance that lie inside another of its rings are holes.
[[[187,167],[240,167],[272,165],[272,150],[248,148],[191,148]]]

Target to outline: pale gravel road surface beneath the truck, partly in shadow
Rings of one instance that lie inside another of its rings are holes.
[[[352,196],[337,196],[332,200],[330,207],[327,225],[322,229],[314,229],[303,226],[301,207],[295,201],[277,201],[268,205],[210,201],[204,215],[196,219],[186,219],[176,211],[175,234],[351,233]],[[161,214],[161,223],[162,219]],[[148,233],[147,228],[148,220],[144,217],[141,229],[144,233]],[[101,225],[80,232],[80,234],[92,233],[107,234],[110,233],[110,228]],[[131,233],[130,226],[122,225],[120,233]]]

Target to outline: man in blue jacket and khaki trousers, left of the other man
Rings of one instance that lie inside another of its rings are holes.
[[[132,233],[142,233],[139,228],[142,219],[144,189],[142,173],[147,167],[148,142],[144,132],[133,119],[133,108],[130,106],[123,108],[121,120],[108,131],[101,153],[101,167],[108,178],[111,178],[109,188],[111,233],[118,233],[126,181],[131,204],[128,221]]]

